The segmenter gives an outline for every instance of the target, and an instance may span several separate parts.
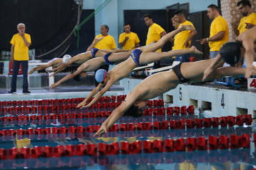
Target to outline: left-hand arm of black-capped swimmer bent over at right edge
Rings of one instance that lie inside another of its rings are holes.
[[[203,72],[202,80],[205,81],[206,79],[208,79],[210,74],[212,74],[213,71],[218,67],[222,67],[223,64],[224,64],[224,61],[221,59],[220,54],[218,54],[217,57],[213,59],[213,62],[210,63],[209,67],[207,67],[206,70]]]

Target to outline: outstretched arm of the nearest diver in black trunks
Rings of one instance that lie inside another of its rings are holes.
[[[114,111],[111,113],[111,115],[105,120],[104,123],[102,123],[102,126],[100,129],[95,133],[96,136],[103,135],[107,132],[107,130],[115,123],[119,118],[128,111],[128,109],[134,104],[135,101],[143,94],[142,91],[138,91],[139,89],[135,87],[133,91],[131,91],[125,100],[122,102],[120,106],[118,106]]]

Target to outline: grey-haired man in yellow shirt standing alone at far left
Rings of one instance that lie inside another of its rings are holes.
[[[11,61],[14,63],[13,75],[11,77],[11,91],[9,93],[16,92],[16,81],[18,75],[18,69],[21,64],[23,71],[23,94],[29,94],[28,91],[28,47],[31,45],[31,36],[25,33],[25,24],[19,23],[18,33],[11,38]]]

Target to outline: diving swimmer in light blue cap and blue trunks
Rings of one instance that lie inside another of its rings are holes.
[[[183,30],[193,30],[193,27],[183,25],[171,33],[164,35],[164,37],[162,37],[158,42],[133,50],[131,56],[127,60],[112,68],[107,74],[105,73],[106,71],[102,69],[98,70],[95,74],[95,79],[100,84],[90,93],[89,96],[87,96],[87,98],[85,98],[84,101],[82,101],[82,103],[78,104],[78,108],[88,108],[92,106],[92,104],[95,103],[103,94],[105,94],[105,92],[110,89],[110,87],[116,81],[129,76],[132,70],[141,64],[149,64],[167,57],[184,55],[188,53],[203,54],[203,52],[198,51],[196,47],[191,47],[184,50],[171,50],[169,52],[155,52],[159,48],[163,47],[166,42],[174,37],[174,35]],[[100,91],[103,86],[105,87]],[[95,94],[97,94],[95,98],[93,98],[92,101],[86,105],[87,101]]]

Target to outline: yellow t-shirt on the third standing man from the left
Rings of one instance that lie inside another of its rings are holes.
[[[129,37],[129,39],[125,43],[123,49],[124,50],[133,50],[135,45],[137,43],[139,43],[139,38],[138,38],[137,33],[132,33],[131,32],[131,33],[127,34],[127,33],[124,32],[124,33],[120,34],[118,43],[123,42],[126,37]]]

